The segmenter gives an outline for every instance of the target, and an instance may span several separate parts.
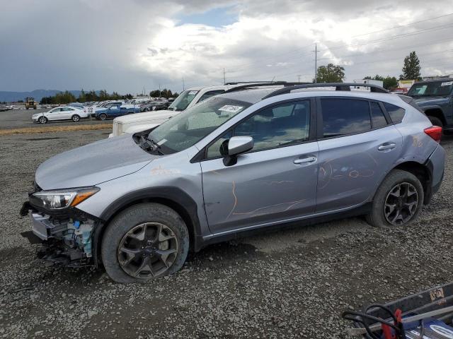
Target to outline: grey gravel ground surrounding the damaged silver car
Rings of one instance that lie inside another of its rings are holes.
[[[445,182],[420,220],[361,218],[210,246],[171,277],[112,283],[103,271],[34,258],[18,210],[35,169],[108,131],[0,137],[0,338],[346,338],[340,313],[437,284],[453,270],[453,138]]]

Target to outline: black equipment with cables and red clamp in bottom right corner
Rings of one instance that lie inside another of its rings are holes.
[[[367,339],[453,339],[453,283],[362,311],[345,311],[343,318],[354,322],[350,335]]]

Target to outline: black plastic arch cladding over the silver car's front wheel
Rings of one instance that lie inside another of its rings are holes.
[[[101,241],[110,221],[126,208],[138,203],[161,203],[175,210],[188,228],[190,250],[198,251],[201,248],[200,234],[202,233],[197,214],[197,203],[188,194],[176,187],[154,187],[126,194],[105,208],[100,217],[103,222],[96,227],[93,239],[96,263],[101,263]]]

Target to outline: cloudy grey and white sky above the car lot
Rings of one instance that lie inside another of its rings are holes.
[[[311,81],[315,42],[347,81],[453,73],[453,0],[0,1],[0,90]]]

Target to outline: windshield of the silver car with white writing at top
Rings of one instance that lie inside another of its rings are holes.
[[[180,152],[250,105],[249,102],[212,97],[156,127],[148,138],[157,143],[164,154]]]

